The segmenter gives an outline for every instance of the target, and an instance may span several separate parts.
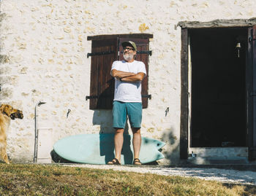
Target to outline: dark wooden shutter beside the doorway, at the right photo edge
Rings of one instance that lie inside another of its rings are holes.
[[[246,110],[248,132],[248,157],[256,160],[256,26],[248,29],[246,64]]]

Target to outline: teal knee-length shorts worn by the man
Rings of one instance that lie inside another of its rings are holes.
[[[113,128],[123,128],[129,118],[131,128],[140,128],[142,103],[113,101]]]

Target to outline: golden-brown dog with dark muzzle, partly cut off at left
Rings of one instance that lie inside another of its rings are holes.
[[[18,109],[13,109],[12,106],[1,104],[0,106],[0,153],[4,162],[10,164],[7,157],[7,130],[11,119],[23,119],[23,112]]]

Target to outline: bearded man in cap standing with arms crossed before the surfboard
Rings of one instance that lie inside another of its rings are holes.
[[[134,42],[123,42],[124,60],[113,62],[111,76],[115,77],[115,95],[113,100],[113,128],[116,157],[109,165],[121,164],[121,149],[124,143],[124,126],[127,116],[133,133],[133,164],[141,165],[140,154],[140,124],[142,119],[141,81],[146,76],[145,64],[135,60],[137,51]]]

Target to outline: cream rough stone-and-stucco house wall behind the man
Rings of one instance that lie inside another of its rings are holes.
[[[24,114],[10,126],[11,160],[33,161],[34,106],[39,101],[47,102],[38,108],[39,128],[52,128],[52,143],[78,133],[113,132],[111,111],[89,110],[86,101],[91,65],[87,36],[148,33],[154,34],[148,63],[152,99],[143,110],[141,132],[167,143],[166,159],[159,164],[178,162],[181,29],[176,24],[255,15],[254,0],[1,0],[0,101]]]

